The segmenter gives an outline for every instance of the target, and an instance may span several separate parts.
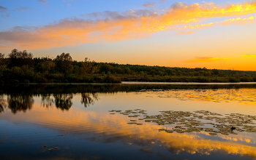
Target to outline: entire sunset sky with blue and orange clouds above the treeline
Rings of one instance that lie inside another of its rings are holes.
[[[0,52],[256,71],[256,0],[0,0]]]

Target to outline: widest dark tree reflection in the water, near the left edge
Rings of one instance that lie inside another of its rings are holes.
[[[31,110],[34,99],[31,95],[10,95],[7,97],[7,103],[12,113],[17,113],[18,111],[26,112]]]

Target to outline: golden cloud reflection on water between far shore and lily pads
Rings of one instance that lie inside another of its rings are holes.
[[[165,91],[147,90],[146,93],[158,97],[174,97],[179,100],[206,100],[217,103],[236,100],[241,104],[256,105],[256,89],[171,89]]]

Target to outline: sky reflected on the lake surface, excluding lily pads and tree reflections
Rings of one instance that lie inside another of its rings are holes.
[[[94,105],[87,105],[87,108],[81,104],[80,94],[72,95],[71,99],[71,96],[63,99],[56,95],[59,104],[61,100],[70,99],[67,104],[72,103],[72,107],[68,111],[56,107],[55,103],[43,106],[45,103],[40,95],[33,97],[32,107],[26,113],[17,111],[14,114],[5,106],[0,114],[0,152],[5,158],[12,155],[15,159],[256,159],[255,132],[235,130],[238,135],[209,135],[205,130],[159,132],[159,129],[172,129],[177,124],[158,125],[143,119],[146,115],[164,114],[159,111],[209,111],[222,114],[219,117],[230,113],[255,116],[255,91],[219,89],[99,94]],[[46,98],[54,101],[54,95]],[[1,100],[7,103],[7,96]],[[138,113],[121,114],[135,109],[145,110],[147,114],[139,113],[138,117],[129,117]],[[109,112],[111,110],[121,110],[121,113]],[[130,120],[137,120],[142,125],[127,124],[132,122]],[[203,127],[213,128],[213,125]],[[48,151],[53,147],[59,150]]]

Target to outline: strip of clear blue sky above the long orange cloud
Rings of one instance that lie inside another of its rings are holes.
[[[124,12],[130,9],[156,9],[162,10],[169,8],[176,1],[145,1],[145,0],[129,0],[129,1],[104,1],[104,0],[0,0],[0,5],[7,8],[7,14],[4,13],[0,17],[0,30],[6,31],[15,26],[38,26],[54,23],[67,17],[83,17],[81,15],[92,12]],[[202,1],[180,1],[187,4],[202,3]],[[210,2],[210,1],[208,1]],[[234,4],[241,2],[234,1],[214,1],[220,5]],[[154,7],[144,7],[143,4],[154,4]],[[83,17],[86,18],[86,17]]]

